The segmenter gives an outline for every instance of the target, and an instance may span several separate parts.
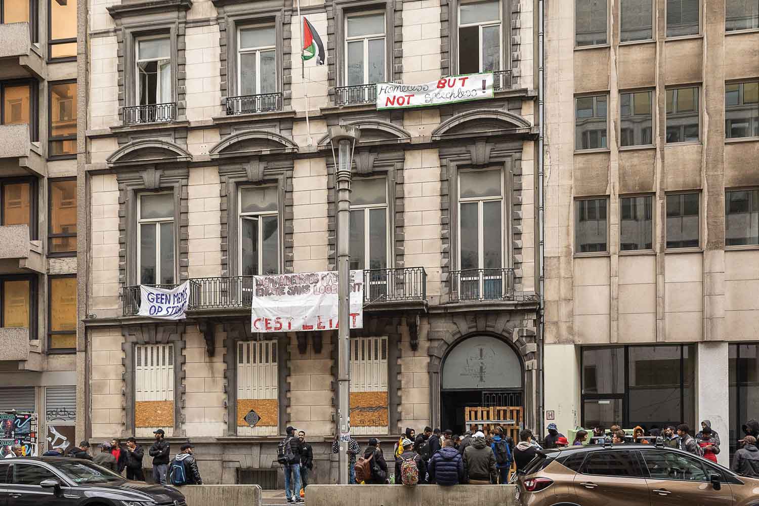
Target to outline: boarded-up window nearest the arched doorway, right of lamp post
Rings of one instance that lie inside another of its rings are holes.
[[[351,338],[351,432],[387,434],[387,338]]]

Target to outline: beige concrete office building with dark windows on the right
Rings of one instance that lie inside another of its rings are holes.
[[[546,420],[757,412],[759,13],[546,2]],[[700,427],[699,427],[700,429]]]

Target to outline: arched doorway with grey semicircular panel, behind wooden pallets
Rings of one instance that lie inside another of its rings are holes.
[[[522,406],[522,364],[505,341],[474,335],[455,344],[442,363],[441,429],[463,433],[465,408]]]

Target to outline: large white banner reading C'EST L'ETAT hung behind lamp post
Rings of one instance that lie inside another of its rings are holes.
[[[364,271],[351,271],[350,328],[364,326]],[[338,328],[337,272],[253,277],[253,332]]]

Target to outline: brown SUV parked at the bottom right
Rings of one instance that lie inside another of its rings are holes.
[[[654,445],[540,451],[518,476],[521,506],[754,506],[759,479]]]

